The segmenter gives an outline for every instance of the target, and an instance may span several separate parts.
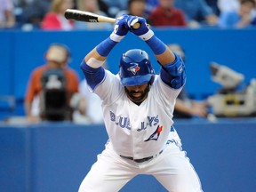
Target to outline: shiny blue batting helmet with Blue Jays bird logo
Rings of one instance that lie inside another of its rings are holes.
[[[119,76],[124,86],[152,84],[155,71],[149,60],[148,53],[140,49],[124,52],[120,59]]]

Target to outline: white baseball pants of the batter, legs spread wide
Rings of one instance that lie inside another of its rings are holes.
[[[117,155],[108,144],[84,178],[79,192],[117,192],[138,174],[153,175],[168,191],[203,192],[186,152],[175,143],[170,143],[161,155],[144,163]]]

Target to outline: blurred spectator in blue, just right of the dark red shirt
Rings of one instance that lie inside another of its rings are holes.
[[[174,6],[182,10],[188,21],[188,27],[215,26],[218,17],[204,0],[175,0]]]

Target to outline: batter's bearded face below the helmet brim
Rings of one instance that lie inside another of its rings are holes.
[[[128,98],[135,103],[141,103],[146,100],[149,92],[149,84],[125,86],[124,88]]]

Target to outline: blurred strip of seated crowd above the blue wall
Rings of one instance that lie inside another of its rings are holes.
[[[0,0],[0,28],[73,30],[112,28],[109,23],[66,20],[67,9],[109,17],[142,16],[153,27],[252,28],[255,0]]]

